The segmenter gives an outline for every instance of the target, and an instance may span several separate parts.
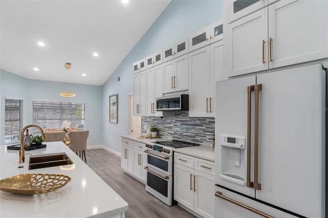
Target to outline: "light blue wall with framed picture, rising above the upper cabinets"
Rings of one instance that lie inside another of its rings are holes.
[[[162,12],[103,86],[103,145],[120,153],[120,135],[129,134],[132,63],[222,19],[222,4],[223,1],[172,1]],[[109,123],[109,96],[113,94],[118,94],[117,124]]]

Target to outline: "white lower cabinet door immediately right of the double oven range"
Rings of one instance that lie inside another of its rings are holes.
[[[174,163],[174,200],[194,210],[194,169]]]

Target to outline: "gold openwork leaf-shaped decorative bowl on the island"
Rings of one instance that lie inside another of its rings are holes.
[[[43,194],[63,187],[71,181],[65,175],[22,174],[0,180],[0,190],[13,194]]]

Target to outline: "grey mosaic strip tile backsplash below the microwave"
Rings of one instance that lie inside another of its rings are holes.
[[[157,126],[157,136],[212,146],[215,119],[189,117],[189,112],[174,112],[170,117],[141,117],[142,134],[145,126]]]

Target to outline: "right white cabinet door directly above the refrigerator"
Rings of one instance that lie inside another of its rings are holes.
[[[269,6],[269,68],[328,57],[327,11],[327,1]]]

